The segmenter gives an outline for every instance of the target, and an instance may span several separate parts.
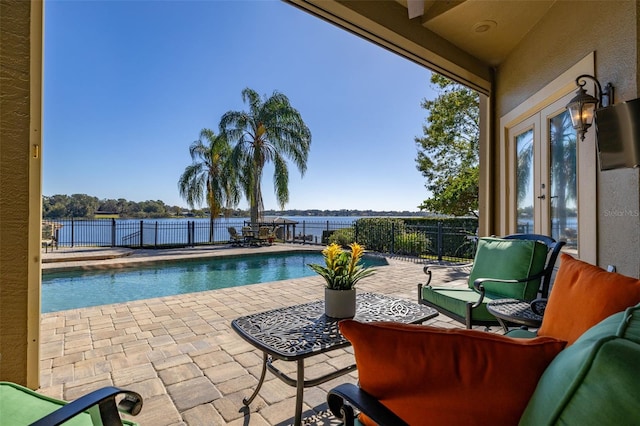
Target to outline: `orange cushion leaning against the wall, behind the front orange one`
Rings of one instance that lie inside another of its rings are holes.
[[[560,255],[538,336],[572,344],[603,319],[640,303],[640,280]]]

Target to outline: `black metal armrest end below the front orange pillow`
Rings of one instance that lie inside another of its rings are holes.
[[[345,404],[345,401],[349,404]],[[327,404],[331,412],[344,422],[345,426],[354,424],[354,406],[379,426],[405,426],[407,423],[396,416],[380,401],[358,386],[343,383],[331,389],[327,394]],[[408,425],[407,425],[408,426]]]

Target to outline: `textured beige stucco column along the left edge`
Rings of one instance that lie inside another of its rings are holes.
[[[41,19],[40,2],[0,2],[0,380],[32,388],[39,383]]]

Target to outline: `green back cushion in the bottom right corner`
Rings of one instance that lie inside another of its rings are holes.
[[[547,367],[521,425],[640,424],[640,305],[584,333]]]

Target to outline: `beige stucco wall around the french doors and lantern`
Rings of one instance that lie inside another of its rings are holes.
[[[633,0],[555,3],[498,68],[496,120],[590,52],[595,52],[598,79],[603,85],[611,82],[615,86],[616,102],[637,98],[638,10],[638,2]],[[619,272],[638,277],[638,170],[598,172],[597,179],[598,202],[593,208],[598,209],[598,264],[613,264]],[[500,212],[499,206],[496,212]]]

